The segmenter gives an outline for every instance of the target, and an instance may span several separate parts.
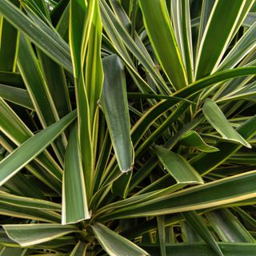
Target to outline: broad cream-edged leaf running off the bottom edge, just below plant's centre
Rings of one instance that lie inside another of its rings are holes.
[[[110,256],[115,255],[129,255],[129,256],[142,256],[149,255],[145,250],[130,242],[128,239],[123,238],[121,235],[110,230],[101,223],[94,223],[91,226],[94,230],[94,234],[101,244],[102,248],[106,250],[106,253]]]

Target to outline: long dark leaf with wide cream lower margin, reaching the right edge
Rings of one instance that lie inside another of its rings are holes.
[[[223,206],[231,202],[239,202],[255,197],[255,181],[256,171],[250,171],[245,174],[222,178],[215,182],[208,182],[201,186],[194,186],[173,194],[166,194],[142,203],[137,203],[134,196],[134,202],[129,204],[129,206],[127,205],[129,198],[115,203],[113,206],[116,210],[108,214],[102,214],[98,218],[98,221],[174,214],[189,210]],[[139,195],[138,197],[141,196]],[[119,209],[118,205],[120,205]],[[111,204],[108,205],[108,209],[111,209]]]

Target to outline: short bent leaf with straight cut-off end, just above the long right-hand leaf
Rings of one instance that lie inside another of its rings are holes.
[[[155,152],[162,165],[178,183],[203,184],[203,180],[197,171],[181,155],[175,154],[162,146],[155,146]]]

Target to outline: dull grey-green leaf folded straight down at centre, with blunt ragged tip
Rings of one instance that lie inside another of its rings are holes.
[[[103,59],[103,67],[102,109],[118,166],[122,172],[127,172],[132,170],[134,165],[134,149],[130,138],[124,66],[116,55],[112,55]]]

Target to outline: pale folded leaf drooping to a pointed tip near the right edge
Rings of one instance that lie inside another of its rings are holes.
[[[210,122],[214,129],[218,130],[219,134],[222,135],[222,138],[241,143],[243,146],[251,148],[250,143],[246,142],[246,140],[234,130],[230,125],[230,122],[227,121],[225,115],[222,113],[222,110],[220,110],[218,105],[210,98],[207,98],[204,102],[202,112],[207,121]]]

